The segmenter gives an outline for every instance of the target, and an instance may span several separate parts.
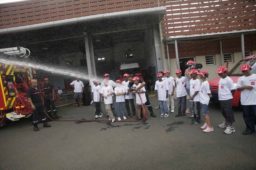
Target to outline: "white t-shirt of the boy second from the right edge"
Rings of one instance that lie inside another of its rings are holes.
[[[231,90],[234,90],[234,82],[230,77],[221,78],[218,84],[218,98],[219,100],[233,99]]]

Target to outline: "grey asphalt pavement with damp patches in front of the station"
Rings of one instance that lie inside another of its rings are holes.
[[[191,125],[189,116],[160,117],[146,122],[49,122],[33,130],[31,119],[0,128],[0,170],[256,170],[256,135],[242,135],[242,113],[234,108],[236,132],[223,133],[218,104],[209,104],[214,132]],[[187,105],[188,105],[187,101]],[[104,111],[105,107],[103,106]],[[149,115],[149,111],[147,110]],[[58,108],[58,120],[94,119],[94,107]],[[107,120],[106,117],[99,120]]]

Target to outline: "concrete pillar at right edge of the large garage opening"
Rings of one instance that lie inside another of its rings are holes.
[[[154,47],[157,61],[157,72],[163,70],[163,53],[162,53],[162,41],[160,38],[159,26],[153,26],[154,35]]]

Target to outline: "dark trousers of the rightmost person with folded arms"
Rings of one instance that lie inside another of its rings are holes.
[[[246,125],[246,130],[255,132],[256,125],[256,105],[242,105],[243,118]]]

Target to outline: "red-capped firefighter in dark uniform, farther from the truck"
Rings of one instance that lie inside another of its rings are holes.
[[[51,105],[52,105],[52,111],[54,113],[53,118],[57,118],[57,111],[54,105],[54,87],[53,85],[49,84],[49,79],[44,79],[44,104],[46,105],[47,114],[52,118],[51,114]]]

